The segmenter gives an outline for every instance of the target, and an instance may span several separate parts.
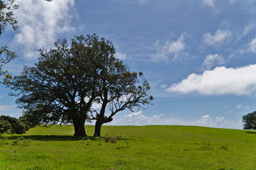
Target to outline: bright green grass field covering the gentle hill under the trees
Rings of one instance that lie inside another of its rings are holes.
[[[117,143],[73,138],[74,127],[36,127],[28,146],[0,146],[0,169],[256,169],[256,132],[193,126],[104,126]],[[86,126],[93,135],[93,126]],[[19,141],[21,143],[21,141]],[[128,147],[129,146],[129,147]]]

